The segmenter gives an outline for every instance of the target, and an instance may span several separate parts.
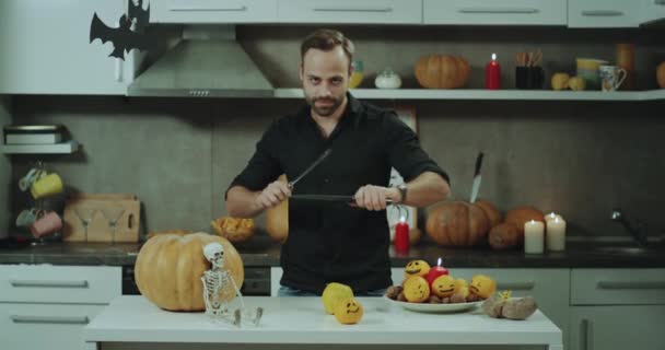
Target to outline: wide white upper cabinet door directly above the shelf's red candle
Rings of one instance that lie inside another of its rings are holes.
[[[565,25],[565,0],[423,0],[424,24]]]

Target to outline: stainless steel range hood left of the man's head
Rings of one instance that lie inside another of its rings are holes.
[[[271,97],[273,86],[233,27],[192,26],[129,85],[129,96]]]

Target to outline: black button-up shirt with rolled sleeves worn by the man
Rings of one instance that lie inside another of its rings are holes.
[[[262,190],[281,174],[293,179],[326,149],[331,153],[295,185],[294,195],[354,195],[364,185],[388,186],[390,167],[407,182],[425,171],[448,180],[394,112],[347,96],[345,114],[328,138],[312,118],[310,106],[275,121],[230,188]],[[281,284],[318,293],[329,282],[358,292],[387,288],[392,284],[389,244],[385,211],[345,202],[290,200]]]

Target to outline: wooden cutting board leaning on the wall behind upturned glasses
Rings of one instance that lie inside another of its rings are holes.
[[[88,228],[88,238],[79,212],[92,212]],[[139,242],[141,201],[130,194],[79,194],[65,205],[62,218],[62,241],[66,242],[113,242],[113,229],[107,217],[119,214],[115,242]],[[105,215],[106,213],[106,215]]]

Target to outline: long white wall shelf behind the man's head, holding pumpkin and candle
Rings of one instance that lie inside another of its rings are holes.
[[[435,90],[435,89],[351,89],[353,96],[366,100],[520,100],[520,101],[650,101],[665,100],[665,89],[648,91],[548,91],[548,90]],[[302,89],[276,89],[277,98],[302,98]]]

